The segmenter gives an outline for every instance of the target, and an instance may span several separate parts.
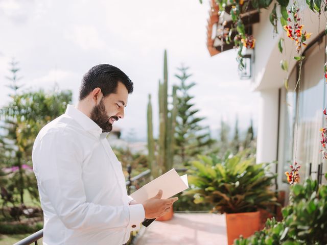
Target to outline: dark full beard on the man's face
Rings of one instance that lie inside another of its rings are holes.
[[[102,132],[110,132],[112,130],[112,124],[110,124],[109,119],[114,118],[118,121],[118,116],[108,116],[106,108],[103,104],[103,99],[100,101],[99,105],[96,105],[92,111],[90,118],[102,129]]]

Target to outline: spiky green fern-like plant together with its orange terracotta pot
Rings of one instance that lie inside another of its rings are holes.
[[[228,244],[240,235],[248,237],[260,228],[259,209],[278,205],[269,187],[276,178],[269,164],[256,164],[241,155],[223,160],[198,156],[192,163],[189,183],[195,203],[210,203],[213,211],[226,214]]]

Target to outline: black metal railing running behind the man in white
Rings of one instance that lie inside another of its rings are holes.
[[[149,182],[150,179],[150,174],[151,174],[151,170],[147,169],[144,172],[142,172],[141,174],[135,176],[135,177],[131,177],[131,171],[132,168],[131,166],[127,167],[127,172],[128,172],[128,180],[126,181],[126,187],[127,187],[127,192],[128,194],[133,191],[138,189],[139,187],[142,187],[145,183]],[[134,237],[136,236],[135,232],[131,233],[131,238],[130,240],[133,240]],[[33,233],[32,235],[16,242],[14,245],[30,245],[30,244],[35,244],[38,245],[37,241],[43,237],[43,229],[39,230],[35,233]]]

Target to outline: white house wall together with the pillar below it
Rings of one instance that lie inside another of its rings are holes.
[[[312,33],[309,39],[309,44],[314,40],[319,33],[325,28],[325,20],[321,18],[320,24],[317,13],[313,13],[303,0],[298,1],[299,5],[304,7],[300,11],[304,30]],[[295,52],[295,43],[291,41],[281,24],[278,21],[279,34],[273,37],[273,27],[269,21],[269,14],[272,6],[269,9],[261,10],[260,22],[253,25],[253,35],[256,39],[254,50],[253,78],[252,89],[259,91],[261,94],[259,107],[259,124],[256,161],[271,162],[277,160],[277,145],[278,145],[278,89],[284,86],[284,78],[288,76],[287,72],[283,71],[280,66],[280,61],[286,59],[289,62],[289,73],[296,65],[296,61],[292,58],[297,56]],[[279,10],[277,10],[277,13]],[[323,17],[323,16],[321,16]],[[286,54],[281,54],[278,50],[278,40],[280,37],[285,39],[284,51]],[[283,121],[283,118],[281,118]],[[283,135],[281,135],[283,137]],[[280,139],[279,142],[281,142]],[[279,164],[281,165],[281,164]],[[275,172],[275,167],[271,169]],[[278,167],[278,174],[283,175],[282,168]],[[281,178],[278,178],[281,184]]]

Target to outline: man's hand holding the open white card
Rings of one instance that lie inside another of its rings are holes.
[[[161,197],[162,190],[159,190],[155,197],[142,203],[145,218],[157,218],[164,215],[173,208],[173,203],[178,200],[178,198],[161,199]]]

